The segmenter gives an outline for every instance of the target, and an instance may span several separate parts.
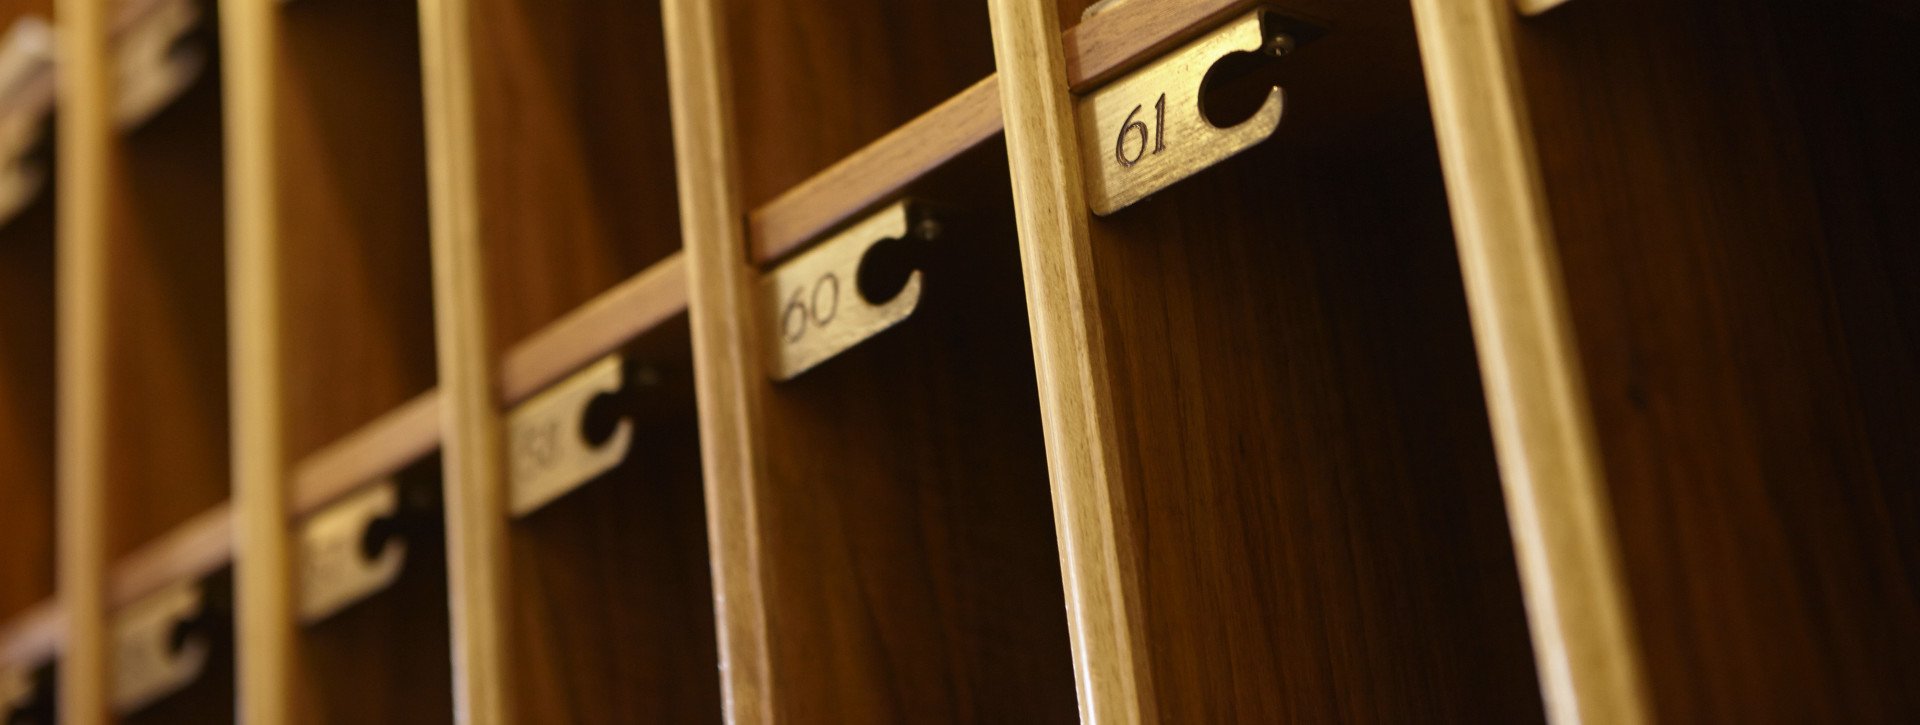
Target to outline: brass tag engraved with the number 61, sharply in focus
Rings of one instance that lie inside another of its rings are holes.
[[[1229,56],[1281,56],[1292,36],[1250,12],[1179,50],[1146,63],[1077,104],[1087,203],[1110,215],[1260,144],[1281,125],[1284,94],[1229,129],[1206,119],[1200,100],[1208,73]]]

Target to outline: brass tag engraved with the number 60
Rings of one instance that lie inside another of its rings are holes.
[[[920,270],[887,299],[868,299],[860,272],[870,253],[889,240],[931,242],[939,226],[920,205],[891,207],[833,234],[760,278],[762,330],[772,338],[766,368],[774,380],[793,380],[833,355],[914,315],[920,305]]]

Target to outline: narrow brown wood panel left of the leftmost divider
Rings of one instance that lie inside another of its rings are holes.
[[[0,550],[10,620],[54,593],[52,194],[0,226]]]

